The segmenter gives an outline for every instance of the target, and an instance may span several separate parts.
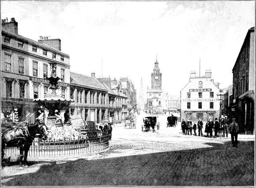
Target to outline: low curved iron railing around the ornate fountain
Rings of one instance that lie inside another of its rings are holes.
[[[67,141],[34,140],[28,152],[28,160],[52,159],[100,152],[109,148],[109,135],[102,132],[88,132],[87,139]],[[19,156],[19,148],[7,147],[4,151],[8,156]]]

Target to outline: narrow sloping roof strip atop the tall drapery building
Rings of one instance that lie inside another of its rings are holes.
[[[8,33],[8,35],[10,35],[10,36],[14,36],[14,37],[16,37],[16,38],[25,40],[26,42],[35,44],[35,45],[37,45],[37,46],[39,46],[39,47],[48,49],[48,50],[50,50],[50,51],[57,52],[58,54],[65,55],[65,56],[67,56],[67,57],[69,58],[69,55],[68,55],[68,54],[65,54],[65,53],[63,53],[63,52],[61,52],[61,51],[58,51],[57,49],[55,49],[55,48],[53,48],[53,47],[51,47],[51,46],[49,46],[49,45],[47,45],[47,44],[45,44],[45,43],[39,43],[38,41],[35,41],[35,40],[32,40],[32,39],[26,38],[26,37],[21,36],[21,35],[17,35],[17,34],[15,34],[15,33],[11,33],[11,32],[9,32],[7,29],[4,29],[3,27],[2,27],[1,29],[2,29],[2,33]]]

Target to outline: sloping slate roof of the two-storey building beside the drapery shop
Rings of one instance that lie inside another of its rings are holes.
[[[96,78],[75,72],[70,72],[70,84],[107,91]]]

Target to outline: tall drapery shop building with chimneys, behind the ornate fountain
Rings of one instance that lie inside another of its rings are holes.
[[[1,34],[2,122],[34,123],[38,105],[33,100],[45,98],[49,92],[45,77],[50,77],[52,61],[56,63],[56,76],[63,78],[58,82],[62,95],[69,99],[69,55],[60,51],[60,39],[41,37],[37,42],[20,36],[15,18],[2,20]]]

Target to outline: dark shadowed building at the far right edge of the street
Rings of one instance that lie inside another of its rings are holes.
[[[233,72],[233,116],[246,133],[255,132],[255,27],[248,30]]]

